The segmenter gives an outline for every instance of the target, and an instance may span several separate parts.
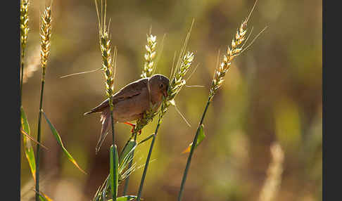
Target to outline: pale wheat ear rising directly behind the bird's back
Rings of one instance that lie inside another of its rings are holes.
[[[142,78],[151,77],[154,69],[154,58],[156,57],[157,37],[152,34],[147,35],[146,53],[144,55],[144,69],[140,75]]]

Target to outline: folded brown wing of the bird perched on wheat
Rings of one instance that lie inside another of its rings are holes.
[[[144,89],[144,87],[148,87],[147,78],[138,79],[135,82],[127,84],[122,89],[120,89],[120,91],[118,91],[117,93],[113,95],[113,105],[127,98],[132,98],[133,96],[139,95],[142,89]],[[103,108],[106,108],[108,106],[109,106],[109,100],[107,98],[101,104],[91,109],[89,112],[84,113],[84,115],[88,115],[88,114],[95,113],[95,112],[102,112]]]

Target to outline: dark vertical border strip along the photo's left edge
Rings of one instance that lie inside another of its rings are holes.
[[[1,6],[1,199],[20,200],[20,0]]]

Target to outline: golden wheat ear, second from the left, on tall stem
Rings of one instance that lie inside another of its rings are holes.
[[[40,27],[40,37],[41,37],[41,63],[42,67],[46,67],[47,59],[50,54],[50,41],[51,41],[51,7],[48,6],[45,8],[42,18],[41,18],[41,27]]]

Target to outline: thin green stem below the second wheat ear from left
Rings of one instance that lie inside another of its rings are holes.
[[[40,91],[40,103],[39,103],[39,117],[38,117],[38,134],[37,141],[40,143],[41,136],[41,122],[42,122],[42,106],[43,106],[43,92],[45,83],[45,70],[43,67],[42,72],[42,89]],[[36,201],[39,201],[39,160],[40,160],[40,145],[37,143],[37,162],[36,162]]]

